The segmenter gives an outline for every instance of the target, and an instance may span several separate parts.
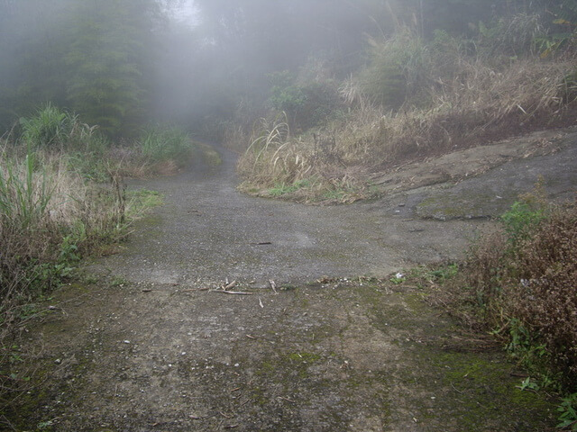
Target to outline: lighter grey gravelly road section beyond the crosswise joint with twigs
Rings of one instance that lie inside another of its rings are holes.
[[[347,206],[307,206],[253,198],[235,189],[234,156],[213,171],[134,182],[163,194],[165,204],[136,225],[120,256],[99,261],[131,282],[264,286],[309,282],[323,275],[389,275],[454,259],[479,220],[422,220],[425,193]]]

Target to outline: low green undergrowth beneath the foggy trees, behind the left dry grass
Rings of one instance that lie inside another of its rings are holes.
[[[175,174],[192,164],[215,166],[220,157],[210,146],[168,124],[150,125],[136,139],[112,142],[78,114],[47,103],[20,119],[5,137],[6,149],[23,156],[27,148],[65,157],[71,170],[96,183],[112,173],[133,177]]]

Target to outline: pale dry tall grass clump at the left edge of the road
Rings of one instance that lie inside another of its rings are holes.
[[[0,153],[0,311],[50,289],[70,260],[122,235],[122,198],[87,184],[66,157]]]

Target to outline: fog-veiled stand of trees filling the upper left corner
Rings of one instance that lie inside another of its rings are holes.
[[[2,126],[50,102],[109,134],[133,130],[171,1],[0,0]]]

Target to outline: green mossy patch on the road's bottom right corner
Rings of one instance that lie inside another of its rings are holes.
[[[446,412],[451,412],[452,421],[468,431],[538,432],[554,422],[553,401],[548,401],[545,394],[519,390],[516,384],[520,381],[509,374],[511,365],[508,367],[501,355],[421,346],[413,353],[419,374],[405,371],[404,380],[421,388],[409,403],[420,417],[435,425],[429,430],[444,430],[442,413]],[[415,397],[417,394],[419,397]]]

